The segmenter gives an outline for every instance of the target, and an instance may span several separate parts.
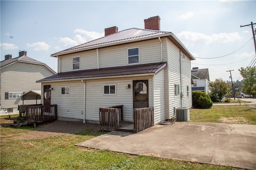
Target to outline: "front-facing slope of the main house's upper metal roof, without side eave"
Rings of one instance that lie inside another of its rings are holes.
[[[142,39],[142,38],[146,38],[146,37],[164,35],[167,33],[171,33],[171,32],[131,28],[131,29],[119,31],[114,34],[107,35],[107,36],[99,38],[99,39],[95,39],[93,41],[60,51],[58,53],[54,53],[51,56],[56,57],[57,55],[63,55],[66,53],[72,53],[72,52],[77,52],[77,51],[81,51],[81,50],[91,49],[93,47],[98,48],[98,47],[104,46],[104,45],[112,45],[114,43],[122,43],[122,42],[126,42],[126,41]]]

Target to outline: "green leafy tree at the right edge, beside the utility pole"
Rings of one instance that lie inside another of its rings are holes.
[[[256,96],[256,66],[241,67],[238,69],[241,76],[244,78],[242,92],[244,94]]]

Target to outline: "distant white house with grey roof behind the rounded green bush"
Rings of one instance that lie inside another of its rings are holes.
[[[192,91],[200,91],[209,94],[210,77],[208,68],[198,69],[198,67],[193,67],[191,76],[193,80]]]

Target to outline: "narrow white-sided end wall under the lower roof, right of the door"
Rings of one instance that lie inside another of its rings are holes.
[[[164,70],[154,76],[154,124],[165,120]]]

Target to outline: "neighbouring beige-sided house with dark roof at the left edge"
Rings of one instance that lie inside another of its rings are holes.
[[[0,107],[8,113],[17,111],[18,105],[23,104],[23,94],[31,90],[41,94],[41,84],[36,83],[36,80],[56,74],[46,64],[31,59],[26,54],[26,51],[20,51],[16,58],[5,55],[5,60],[0,63]],[[41,100],[37,102],[40,104]],[[24,104],[36,104],[36,100],[26,100]]]

